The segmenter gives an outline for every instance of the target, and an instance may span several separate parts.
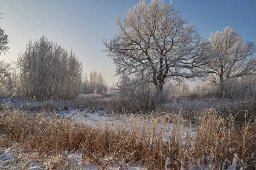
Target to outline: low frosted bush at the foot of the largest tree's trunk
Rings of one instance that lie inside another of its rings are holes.
[[[146,79],[141,80],[140,77],[122,74],[113,86],[113,91],[118,95],[114,99],[117,104],[111,102],[113,109],[116,109],[116,111],[122,111],[121,107],[134,112],[148,112],[156,109],[156,90],[154,85]]]

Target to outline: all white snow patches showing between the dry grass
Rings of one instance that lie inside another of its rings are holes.
[[[13,100],[10,102],[10,105],[15,105],[18,107],[37,107],[38,102],[32,102],[27,105],[27,101],[22,100]],[[81,110],[79,108],[67,108],[67,109],[58,109],[58,111],[53,112],[53,114],[58,114],[64,118],[71,118],[77,122],[89,123],[90,125],[105,125],[105,123],[113,123],[113,125],[122,124],[124,121],[129,121],[131,126],[133,123],[131,121],[132,116],[126,116],[125,118],[122,115],[110,115],[107,114],[105,110],[95,110],[87,109]],[[127,123],[127,122],[126,122]],[[148,122],[150,125],[150,122]],[[160,123],[158,124],[160,128]],[[164,124],[164,138],[168,139],[171,135],[174,124],[165,123]],[[181,127],[183,137],[186,138],[186,134],[190,134],[190,137],[195,136],[195,128],[193,127]],[[3,136],[2,136],[3,137]],[[81,150],[76,150],[69,153],[67,150],[63,153],[60,153],[56,156],[48,156],[47,153],[42,153],[38,155],[38,151],[26,152],[26,149],[23,148],[22,144],[10,142],[8,146],[0,146],[0,169],[10,169],[10,170],[98,170],[98,169],[112,169],[112,170],[145,170],[141,162],[131,161],[125,163],[124,160],[114,160],[113,157],[108,156],[101,159],[101,165],[96,165],[90,162],[82,161]],[[210,160],[211,158],[202,158],[199,160],[201,162],[201,170],[213,170],[216,165]],[[225,160],[221,170],[236,170],[239,159],[237,154],[234,154],[233,160]],[[207,162],[207,163],[205,163]],[[165,169],[169,170],[169,164],[172,163],[172,160],[167,157],[165,161]],[[181,164],[183,161],[181,160]],[[256,167],[256,164],[255,164]],[[197,166],[194,164],[189,165],[189,167],[183,167],[183,170],[190,169],[196,170]]]

